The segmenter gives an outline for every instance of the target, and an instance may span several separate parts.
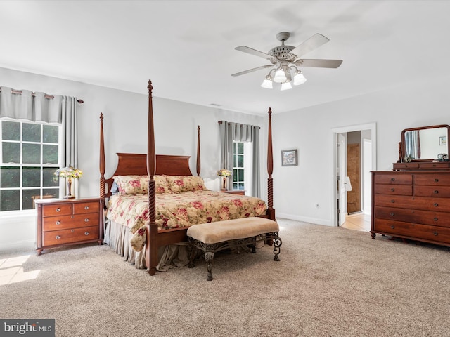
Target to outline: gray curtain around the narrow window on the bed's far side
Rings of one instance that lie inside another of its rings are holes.
[[[233,141],[252,142],[252,190],[250,195],[259,197],[259,126],[221,121],[220,133],[220,168],[233,171]],[[229,190],[233,189],[233,181],[229,179]]]

